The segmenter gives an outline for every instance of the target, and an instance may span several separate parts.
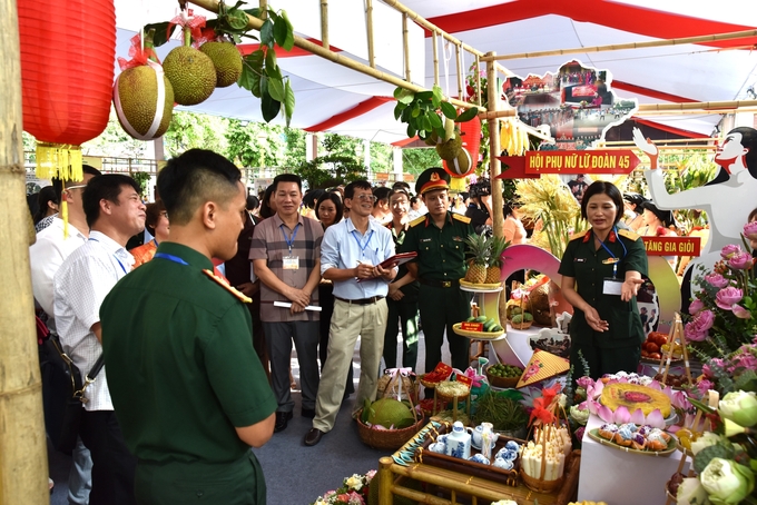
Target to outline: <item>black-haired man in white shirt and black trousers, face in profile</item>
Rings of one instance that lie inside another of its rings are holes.
[[[145,227],[139,186],[128,176],[92,178],[82,195],[89,239],[70,254],[53,278],[53,311],[63,350],[82,376],[102,354],[100,304],[131,270],[128,239]],[[136,503],[136,459],[116,419],[105,368],[86,390],[80,436],[92,455],[90,505]]]

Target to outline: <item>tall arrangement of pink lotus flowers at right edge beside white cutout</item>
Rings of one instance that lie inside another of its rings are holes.
[[[753,238],[754,237],[754,238]],[[744,227],[746,239],[757,239],[757,222]],[[720,251],[722,259],[712,271],[695,277],[700,287],[689,306],[691,319],[686,324],[686,339],[699,357],[719,358],[728,356],[745,344],[750,344],[757,334],[757,289],[751,254],[738,245],[728,245]]]

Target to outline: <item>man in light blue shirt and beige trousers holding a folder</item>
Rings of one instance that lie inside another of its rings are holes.
[[[350,209],[350,217],[328,227],[321,246],[321,274],[334,283],[334,315],[313,429],[305,436],[308,446],[316,445],[334,427],[358,335],[361,373],[354,410],[366,398],[376,397],[386,329],[386,294],[397,270],[394,266],[380,266],[394,256],[394,240],[389,229],[370,219],[374,201],[367,181],[347,185],[344,206]]]

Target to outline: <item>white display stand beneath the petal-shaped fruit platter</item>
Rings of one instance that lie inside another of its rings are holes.
[[[665,484],[678,469],[681,453],[657,457],[601,445],[589,438],[588,433],[602,424],[599,417],[589,417],[581,446],[578,501],[601,501],[612,505],[665,505]],[[690,461],[684,474],[688,472],[689,464]]]

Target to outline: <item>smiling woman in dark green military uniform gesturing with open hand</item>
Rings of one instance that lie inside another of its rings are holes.
[[[562,294],[574,309],[570,324],[574,378],[636,372],[639,365],[645,334],[636,295],[647,275],[647,253],[638,235],[618,229],[622,214],[618,188],[604,181],[589,186],[581,216],[591,228],[572,237],[560,263]]]

